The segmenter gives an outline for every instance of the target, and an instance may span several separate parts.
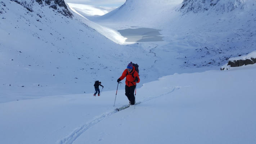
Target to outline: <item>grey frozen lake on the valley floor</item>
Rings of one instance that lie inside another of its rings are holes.
[[[123,37],[126,37],[126,42],[149,42],[163,41],[163,36],[160,36],[161,30],[153,28],[128,28],[125,30],[117,30]]]

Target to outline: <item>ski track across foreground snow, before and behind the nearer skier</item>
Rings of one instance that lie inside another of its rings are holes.
[[[168,93],[162,94],[162,95],[158,95],[158,96],[153,96],[150,98],[147,98],[145,100],[142,100],[141,103],[147,102],[149,100],[161,97],[163,95],[167,95],[172,93],[175,90],[180,89],[181,87],[176,86],[174,87],[171,91],[169,91]],[[96,125],[98,122],[104,120],[105,118],[111,116],[112,114],[118,112],[115,109],[113,109],[112,111],[109,112],[105,112],[103,114],[101,114],[100,116],[97,116],[96,118],[94,118],[93,120],[87,122],[85,125],[78,127],[77,129],[73,130],[73,132],[71,132],[71,134],[69,134],[66,138],[63,138],[62,140],[58,140],[56,142],[56,144],[72,144],[80,135],[82,135],[86,130],[88,130],[90,127],[93,127],[94,125]]]

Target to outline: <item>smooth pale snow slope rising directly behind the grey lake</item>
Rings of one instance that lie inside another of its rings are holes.
[[[152,27],[165,23],[166,16],[168,19],[172,16],[172,10],[182,0],[126,0],[125,4],[119,8],[95,18],[97,20],[105,20],[108,22],[122,22],[136,26]],[[94,20],[93,18],[90,18]]]

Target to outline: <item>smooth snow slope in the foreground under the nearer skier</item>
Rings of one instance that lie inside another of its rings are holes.
[[[0,104],[1,144],[253,144],[256,65],[174,74],[136,90],[60,95]],[[117,83],[117,82],[116,82]]]

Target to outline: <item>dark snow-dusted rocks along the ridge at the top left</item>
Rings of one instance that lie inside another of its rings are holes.
[[[57,10],[57,12],[61,13],[65,17],[72,18],[73,16],[73,14],[69,11],[68,6],[66,5],[64,0],[27,0],[27,1],[10,0],[10,1],[15,1],[16,3],[22,5],[24,8],[26,8],[30,12],[33,12],[33,5],[37,3],[42,6],[49,6],[50,8]]]

